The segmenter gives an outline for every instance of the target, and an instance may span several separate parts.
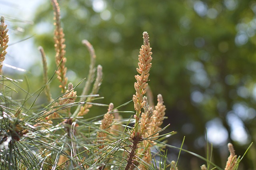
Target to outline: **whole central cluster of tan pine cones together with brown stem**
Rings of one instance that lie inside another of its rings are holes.
[[[136,166],[140,170],[146,170],[151,166],[152,157],[150,147],[153,146],[153,142],[150,142],[148,138],[154,137],[154,140],[158,138],[158,131],[161,130],[160,125],[162,125],[165,115],[164,111],[166,110],[163,105],[162,95],[158,95],[158,104],[154,111],[149,106],[147,97],[143,97],[148,86],[146,82],[148,81],[149,71],[152,65],[152,48],[150,47],[147,32],[143,32],[143,38],[144,45],[141,46],[140,55],[138,55],[139,67],[137,71],[140,75],[135,76],[137,80],[134,83],[136,95],[133,95],[132,98],[136,111],[136,115],[134,115],[135,125],[129,138],[132,146],[125,170],[133,169]],[[142,108],[144,108],[144,112],[141,113]]]

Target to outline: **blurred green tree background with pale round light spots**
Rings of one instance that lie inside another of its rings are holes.
[[[243,155],[256,140],[256,1],[254,0],[62,0],[68,79],[74,85],[88,74],[90,56],[82,45],[94,46],[104,79],[98,103],[117,107],[132,99],[138,54],[147,31],[153,52],[149,85],[166,105],[164,125],[178,133],[168,144],[206,157],[206,140],[213,144],[212,161],[224,167],[228,142]],[[54,63],[53,11],[49,0],[2,1],[0,14],[10,25],[10,48],[4,66],[10,77],[29,79],[30,91],[43,86],[38,45],[44,47],[49,75]],[[26,40],[29,38],[28,40]],[[24,40],[24,41],[22,41]],[[20,42],[21,41],[21,42]],[[16,43],[17,42],[17,43]],[[26,83],[21,83],[26,87]],[[51,84],[60,95],[58,81]],[[81,93],[83,83],[78,86]],[[42,94],[37,103],[46,102]],[[121,108],[133,111],[130,103]],[[102,115],[93,107],[86,117]],[[132,114],[123,114],[129,118]],[[206,135],[207,132],[207,135]],[[207,138],[206,138],[207,136]],[[179,150],[168,150],[177,160]],[[253,144],[239,169],[256,169]],[[196,170],[203,160],[182,152],[179,169]]]

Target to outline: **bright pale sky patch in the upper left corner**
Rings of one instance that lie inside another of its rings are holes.
[[[33,46],[33,38],[24,40],[22,34],[27,24],[33,24],[34,13],[45,0],[0,0],[0,15],[5,17],[9,29],[9,42],[3,70],[19,72],[10,67],[28,69],[40,59],[38,50]],[[16,20],[16,21],[15,21]],[[20,42],[22,41],[22,42]],[[18,43],[17,43],[18,42]]]

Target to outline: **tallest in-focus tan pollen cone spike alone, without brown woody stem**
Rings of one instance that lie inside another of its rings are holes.
[[[140,62],[138,63],[139,68],[137,68],[137,71],[140,75],[135,75],[135,79],[137,80],[137,82],[134,83],[136,95],[133,95],[132,98],[134,101],[134,109],[136,110],[136,115],[134,115],[135,125],[139,123],[140,110],[145,105],[145,102],[143,102],[142,100],[143,95],[146,93],[146,87],[148,85],[148,83],[146,82],[148,81],[149,71],[152,65],[152,48],[150,48],[149,37],[147,32],[143,32],[143,39],[144,45],[142,45],[140,49],[140,55],[138,58]],[[134,131],[138,132],[138,126],[135,126]]]

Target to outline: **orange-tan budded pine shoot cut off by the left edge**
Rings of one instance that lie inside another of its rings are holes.
[[[4,24],[4,17],[0,18],[0,73],[2,73],[3,61],[7,53],[6,48],[9,41],[9,36],[7,35],[8,29],[7,25]]]

